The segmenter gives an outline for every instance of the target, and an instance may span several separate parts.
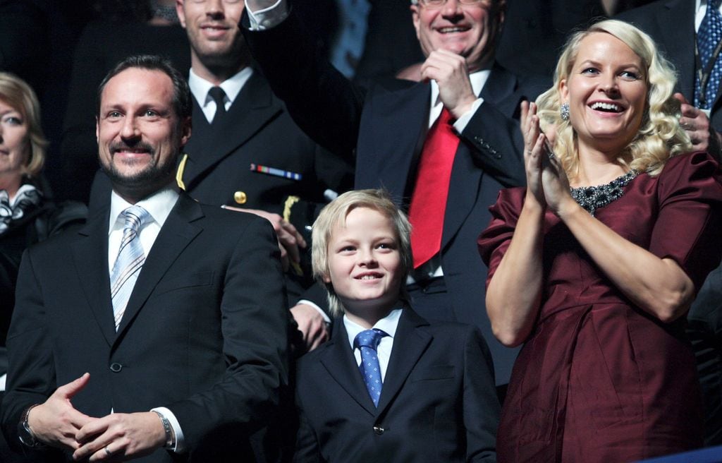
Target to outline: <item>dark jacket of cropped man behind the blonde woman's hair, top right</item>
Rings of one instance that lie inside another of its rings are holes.
[[[666,59],[677,69],[676,90],[695,101],[695,2],[689,0],[658,0],[619,14],[615,19],[631,22],[651,35]],[[722,99],[717,90],[712,105],[711,121],[722,131]]]

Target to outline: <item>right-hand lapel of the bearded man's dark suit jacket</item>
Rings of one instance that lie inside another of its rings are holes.
[[[118,339],[132,324],[133,319],[141,310],[160,279],[168,271],[173,261],[201,233],[201,228],[193,224],[193,220],[203,217],[199,204],[186,194],[181,193],[178,202],[165,220],[160,233],[155,239],[138,280],[133,287],[133,293],[128,300],[128,306],[123,313],[123,319],[118,326]],[[111,309],[112,311],[112,309]]]

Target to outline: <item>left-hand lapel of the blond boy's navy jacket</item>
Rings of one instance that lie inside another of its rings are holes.
[[[349,336],[340,319],[334,324],[334,336],[331,343],[326,352],[321,355],[323,368],[326,368],[331,378],[334,378],[334,381],[344,391],[347,391],[355,402],[371,415],[375,415],[376,407],[368,395],[361,372],[356,365],[356,358],[349,346]],[[381,397],[383,399],[383,395]]]

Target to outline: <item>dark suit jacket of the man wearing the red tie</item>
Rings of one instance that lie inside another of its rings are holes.
[[[248,24],[244,16],[243,22]],[[274,92],[299,126],[329,150],[355,157],[355,188],[383,187],[406,207],[428,128],[430,85],[392,81],[365,92],[335,71],[303,40],[303,25],[290,16],[277,27],[244,34]],[[484,309],[487,269],[476,238],[490,222],[488,207],[503,186],[522,185],[523,140],[518,107],[546,82],[492,69],[484,103],[461,134],[444,217],[441,260],[453,313],[439,319],[479,326],[489,340],[497,382],[505,384],[517,350],[493,339]]]

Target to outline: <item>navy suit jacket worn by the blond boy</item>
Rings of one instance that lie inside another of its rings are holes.
[[[378,408],[344,324],[301,358],[295,462],[495,462],[499,420],[489,349],[469,325],[405,308]]]

